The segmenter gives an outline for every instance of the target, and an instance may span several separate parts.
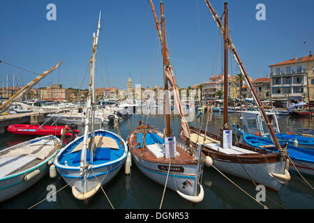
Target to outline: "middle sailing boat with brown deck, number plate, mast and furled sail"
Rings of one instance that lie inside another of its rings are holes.
[[[174,107],[181,116],[181,126],[184,134],[189,137],[188,125],[179,100],[179,91],[172,74],[172,67],[165,45],[165,17],[163,2],[160,3],[160,23],[156,16],[154,4],[150,1],[154,13],[156,29],[163,45],[163,75],[165,80],[165,113],[166,129],[158,130],[151,125],[140,122],[140,125],[128,134],[128,146],[133,155],[133,162],[144,175],[152,180],[166,185],[176,191],[181,197],[192,202],[200,202],[204,197],[204,190],[200,185],[200,176],[204,167],[205,156],[200,149],[186,146],[172,135],[170,127],[170,103],[168,81],[174,89]],[[169,154],[168,154],[169,153]],[[200,186],[200,187],[199,187]],[[200,190],[198,190],[200,188]]]

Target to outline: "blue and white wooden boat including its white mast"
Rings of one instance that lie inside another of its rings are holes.
[[[94,130],[95,63],[99,31],[100,14],[97,35],[93,35],[84,135],[65,146],[54,161],[57,172],[72,187],[73,196],[84,201],[88,201],[102,185],[112,180],[128,154],[128,146],[121,136],[107,130]]]

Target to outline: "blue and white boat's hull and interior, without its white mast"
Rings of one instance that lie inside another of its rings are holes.
[[[58,174],[72,187],[73,196],[89,199],[101,185],[110,182],[119,172],[128,154],[128,146],[119,135],[107,130],[96,130],[96,151],[91,164],[87,151],[87,169],[81,174],[80,160],[84,136],[77,137],[61,149],[54,165]],[[91,134],[89,133],[89,139]]]

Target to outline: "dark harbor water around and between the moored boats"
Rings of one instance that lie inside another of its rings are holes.
[[[206,115],[206,114],[205,114]],[[229,123],[241,123],[241,114],[229,114]],[[194,121],[188,124],[199,128],[200,122],[196,122],[197,113],[195,113]],[[153,125],[155,128],[164,128],[163,115],[141,116],[134,114],[130,118],[126,118],[119,123],[121,136],[126,139],[128,132],[133,130],[139,121],[144,121]],[[172,131],[177,135],[180,125],[179,116],[172,116]],[[223,123],[223,113],[214,112],[212,121],[208,124],[207,130],[218,134]],[[206,123],[205,123],[206,124]],[[205,128],[203,123],[202,128]],[[278,116],[278,124],[281,132],[297,133],[295,128],[314,128],[313,118],[299,118],[292,116]],[[112,126],[103,126],[104,129],[116,132]],[[79,125],[82,134],[83,126]],[[0,150],[19,144],[22,141],[33,139],[34,137],[17,136],[5,132],[0,134]],[[226,174],[230,180],[239,185],[243,190],[251,194],[255,198],[257,190],[255,185],[249,181]],[[305,176],[308,183],[314,185],[314,178]],[[92,208],[102,209],[112,208],[107,201],[103,191],[99,191],[89,203],[84,204],[83,201],[73,197],[71,188],[66,186],[61,176],[50,178],[49,174],[42,178],[38,183],[30,187],[27,191],[18,194],[16,197],[0,203],[0,208],[18,208],[26,209],[38,203],[33,208],[41,209],[76,209],[76,208]],[[172,190],[165,190],[163,199],[163,208],[170,209],[233,209],[233,208],[262,208],[247,194],[239,190],[234,184],[227,180],[211,167],[204,167],[202,175],[202,186],[204,188],[204,199],[200,203],[190,203],[181,198]],[[63,188],[64,187],[64,188]],[[63,189],[62,189],[63,188]],[[158,209],[163,196],[163,185],[155,183],[140,172],[133,164],[130,175],[124,173],[124,168],[119,171],[117,176],[104,187],[107,197],[110,199],[112,206],[116,209]],[[51,196],[52,192],[58,191],[55,196]],[[43,199],[50,197],[50,199]],[[40,202],[42,201],[42,202]],[[268,208],[314,208],[314,190],[308,187],[298,174],[291,173],[291,180],[288,185],[283,185],[279,192],[266,191],[266,201],[261,201]]]

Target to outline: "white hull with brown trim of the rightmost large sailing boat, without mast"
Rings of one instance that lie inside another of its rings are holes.
[[[204,134],[204,130],[190,127],[190,132]],[[211,157],[213,165],[218,170],[227,174],[251,180],[256,184],[262,184],[265,187],[278,192],[283,183],[287,181],[278,180],[273,174],[285,174],[285,161],[281,160],[278,154],[264,153],[263,150],[255,149],[251,146],[245,146],[232,142],[234,151],[227,152],[220,148],[220,137],[207,132],[207,137],[216,141],[215,143],[204,144],[202,152]],[[193,142],[193,146],[197,144]],[[239,148],[237,148],[237,147]],[[244,149],[244,150],[243,150]],[[241,153],[237,154],[237,151]],[[236,153],[234,153],[236,152]]]

